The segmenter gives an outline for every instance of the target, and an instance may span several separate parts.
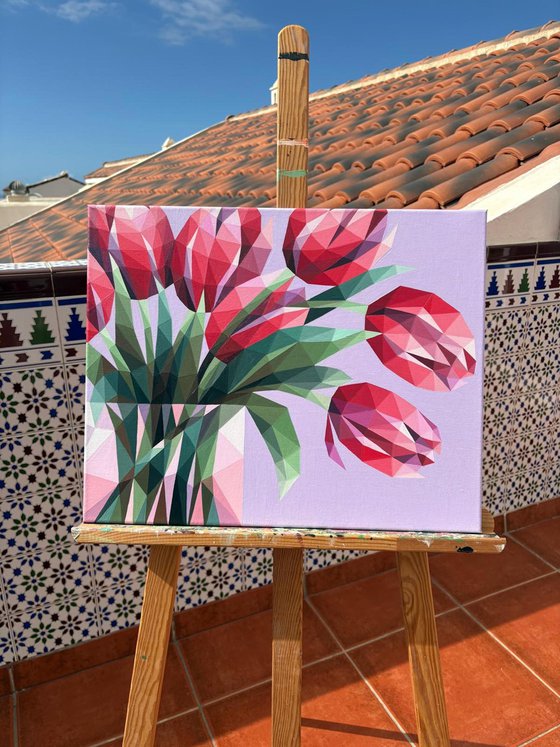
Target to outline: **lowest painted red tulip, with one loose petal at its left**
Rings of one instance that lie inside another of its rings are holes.
[[[441,451],[434,423],[398,394],[368,383],[341,386],[331,399],[325,441],[343,466],[333,430],[358,459],[390,477],[419,477]]]

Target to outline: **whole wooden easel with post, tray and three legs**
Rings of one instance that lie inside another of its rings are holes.
[[[309,68],[306,30],[300,26],[282,29],[278,52],[277,205],[305,207]],[[154,744],[181,548],[187,545],[273,548],[274,747],[300,744],[304,550],[395,551],[420,747],[448,747],[428,552],[497,553],[505,546],[505,540],[494,534],[494,521],[484,510],[481,534],[101,524],[81,524],[73,533],[79,543],[150,545],[123,747]]]

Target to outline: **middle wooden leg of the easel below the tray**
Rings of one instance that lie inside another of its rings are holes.
[[[299,747],[303,550],[273,550],[272,745]]]

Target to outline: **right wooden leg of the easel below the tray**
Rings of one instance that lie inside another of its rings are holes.
[[[428,554],[398,552],[401,597],[420,747],[449,747]]]

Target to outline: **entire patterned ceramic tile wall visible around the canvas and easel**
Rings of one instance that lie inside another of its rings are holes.
[[[537,251],[538,250],[538,251]],[[73,544],[85,270],[0,266],[0,663],[138,622],[147,550]],[[560,495],[560,245],[496,247],[487,274],[485,502]],[[306,570],[359,553],[310,552]],[[185,548],[177,609],[269,583],[267,550]]]

